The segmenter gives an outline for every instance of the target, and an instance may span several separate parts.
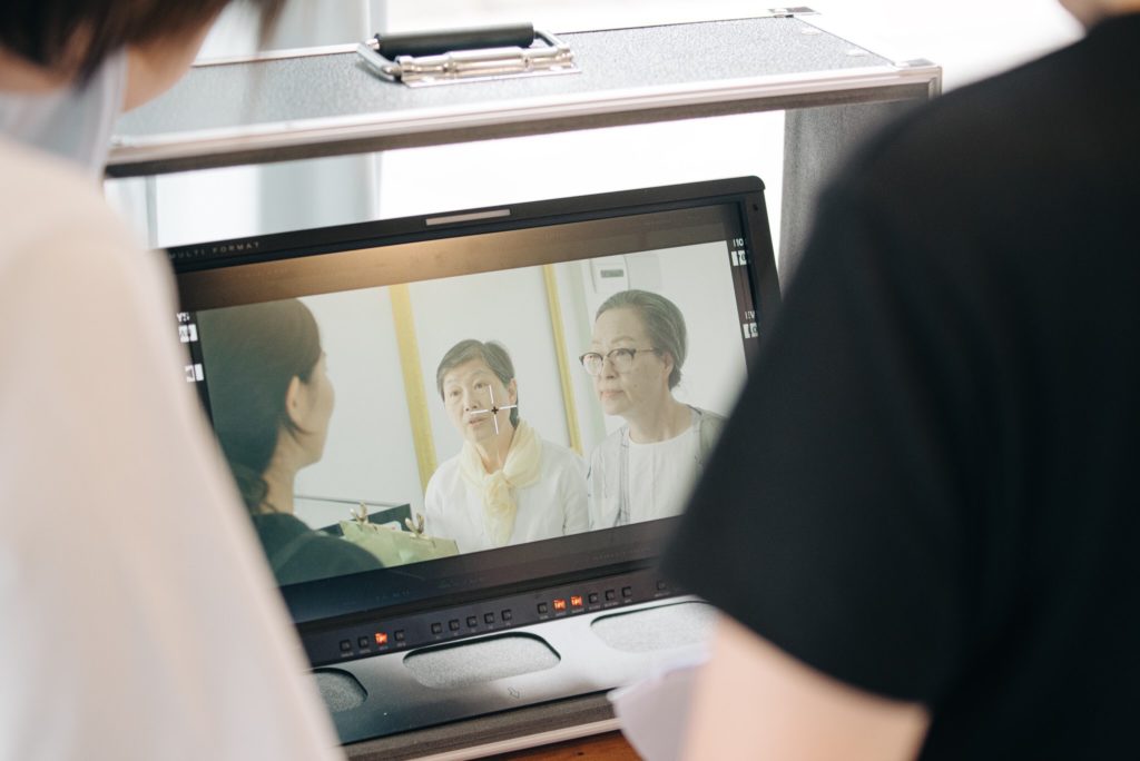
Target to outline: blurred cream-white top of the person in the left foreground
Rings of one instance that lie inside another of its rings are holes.
[[[164,263],[65,208],[0,249],[0,759],[336,758]]]

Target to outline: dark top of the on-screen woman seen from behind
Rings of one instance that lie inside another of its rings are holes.
[[[383,567],[364,548],[340,537],[314,531],[294,515],[263,513],[252,517],[278,584],[294,584]]]

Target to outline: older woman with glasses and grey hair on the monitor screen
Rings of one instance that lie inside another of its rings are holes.
[[[591,455],[591,529],[684,508],[724,424],[673,396],[685,351],[685,318],[665,296],[622,291],[598,308],[591,350],[580,359],[602,409],[626,424]]]

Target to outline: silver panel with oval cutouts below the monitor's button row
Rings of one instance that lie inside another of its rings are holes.
[[[712,607],[629,605],[315,671],[343,743],[627,685],[699,656]],[[425,748],[417,743],[417,753]],[[389,748],[388,758],[396,758]]]

